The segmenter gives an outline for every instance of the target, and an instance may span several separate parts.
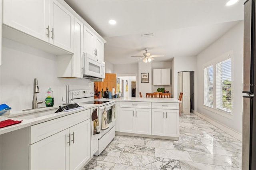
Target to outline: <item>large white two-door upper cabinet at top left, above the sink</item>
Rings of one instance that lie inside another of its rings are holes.
[[[3,24],[74,52],[74,16],[57,0],[4,0]]]

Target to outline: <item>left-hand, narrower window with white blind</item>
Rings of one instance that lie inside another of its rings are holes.
[[[213,107],[213,67],[204,68],[204,105]]]

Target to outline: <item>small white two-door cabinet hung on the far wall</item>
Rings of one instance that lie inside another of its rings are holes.
[[[170,85],[170,69],[154,69],[153,85]]]

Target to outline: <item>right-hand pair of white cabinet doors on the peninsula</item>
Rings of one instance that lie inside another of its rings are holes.
[[[152,109],[152,135],[179,136],[179,110]]]

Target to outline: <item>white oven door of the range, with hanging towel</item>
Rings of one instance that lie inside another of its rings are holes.
[[[100,124],[100,133],[101,136],[104,136],[106,132],[108,132],[112,127],[115,126],[115,121],[112,120],[112,110],[113,110],[114,103],[111,103],[109,105],[105,105],[102,107],[99,107],[99,124]],[[102,130],[102,114],[104,112],[104,109],[106,108],[107,112],[107,122],[108,122],[108,128],[105,130]]]

